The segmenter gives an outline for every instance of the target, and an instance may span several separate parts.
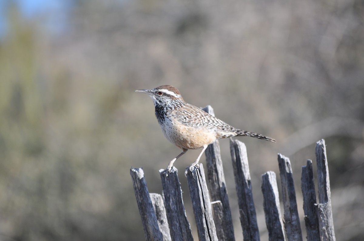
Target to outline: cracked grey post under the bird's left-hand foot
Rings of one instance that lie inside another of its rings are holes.
[[[167,218],[173,241],[192,241],[191,226],[187,220],[185,206],[182,200],[181,184],[178,180],[177,169],[171,171],[159,170],[162,180]]]

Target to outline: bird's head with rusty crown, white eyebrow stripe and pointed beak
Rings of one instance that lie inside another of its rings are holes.
[[[181,93],[176,87],[171,85],[162,85],[151,90],[135,90],[135,92],[149,94],[153,99],[154,105],[166,105],[173,100],[182,100]]]

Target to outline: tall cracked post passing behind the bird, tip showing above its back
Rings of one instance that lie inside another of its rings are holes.
[[[206,106],[202,110],[210,115],[215,115],[211,106]],[[230,211],[229,197],[227,196],[218,140],[207,147],[205,155],[207,178],[211,185],[210,195],[213,203],[212,208],[214,211],[217,237],[219,241],[234,241],[233,219]]]

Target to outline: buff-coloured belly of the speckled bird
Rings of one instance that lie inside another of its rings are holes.
[[[215,132],[207,127],[186,126],[168,118],[161,128],[166,138],[179,148],[198,149],[216,140]]]

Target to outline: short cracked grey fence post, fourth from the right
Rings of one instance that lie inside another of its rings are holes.
[[[262,175],[262,193],[269,241],[285,241],[276,173],[269,171]]]

